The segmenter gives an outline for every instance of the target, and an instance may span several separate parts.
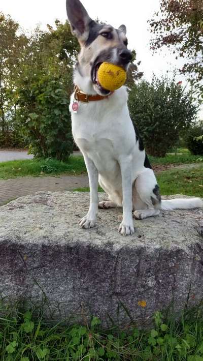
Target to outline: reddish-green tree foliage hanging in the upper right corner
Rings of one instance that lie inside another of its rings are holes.
[[[186,58],[181,73],[189,74],[203,100],[203,3],[202,0],[161,0],[160,11],[150,20],[155,35],[151,48],[166,46]]]

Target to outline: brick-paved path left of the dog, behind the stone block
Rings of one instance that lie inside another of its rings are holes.
[[[20,177],[0,180],[0,205],[16,197],[34,194],[39,191],[71,191],[79,187],[89,187],[87,175]]]

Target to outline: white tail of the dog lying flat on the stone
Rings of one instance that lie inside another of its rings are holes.
[[[176,198],[161,201],[161,209],[192,209],[203,207],[202,198]]]

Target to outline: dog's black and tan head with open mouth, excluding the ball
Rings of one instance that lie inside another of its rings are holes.
[[[132,55],[127,49],[126,27],[121,25],[115,29],[92,20],[80,0],[66,0],[66,10],[72,33],[81,46],[77,71],[81,76],[89,77],[96,93],[108,95],[110,92],[98,82],[97,71],[103,62],[128,70]]]

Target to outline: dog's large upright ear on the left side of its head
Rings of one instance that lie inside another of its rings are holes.
[[[89,36],[89,17],[80,0],[66,0],[67,17],[71,23],[72,33],[79,41],[85,42]]]

